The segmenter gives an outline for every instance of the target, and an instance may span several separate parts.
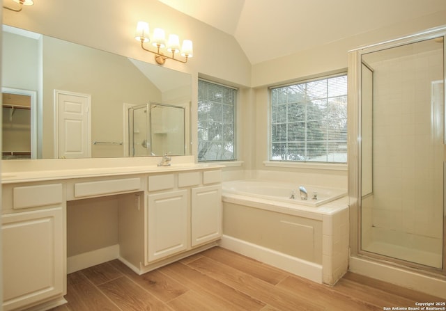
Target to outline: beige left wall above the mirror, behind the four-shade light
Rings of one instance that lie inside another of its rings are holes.
[[[20,14],[5,12],[3,17],[3,23],[10,26],[155,63],[153,54],[142,51],[134,40],[139,20],[148,22],[151,29],[161,27],[167,33],[174,32],[180,38],[193,40],[194,57],[187,64],[167,61],[164,65],[192,74],[192,109],[197,106],[199,73],[240,86],[251,84],[251,65],[231,35],[187,17],[159,1],[39,1]],[[194,114],[192,133],[197,133],[197,116]],[[194,149],[192,145],[193,153]]]

